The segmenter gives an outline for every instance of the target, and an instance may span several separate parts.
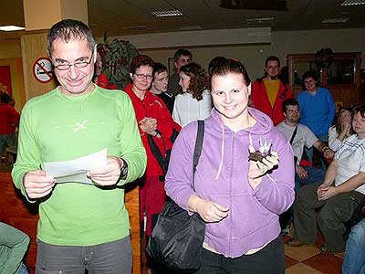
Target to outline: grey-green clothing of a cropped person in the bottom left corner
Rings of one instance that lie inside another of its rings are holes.
[[[28,245],[25,233],[0,222],[0,273],[17,273]]]

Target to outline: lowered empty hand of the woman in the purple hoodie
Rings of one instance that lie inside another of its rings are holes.
[[[197,212],[205,222],[219,222],[228,216],[229,208],[219,205],[212,201],[205,200],[197,195],[193,195],[189,199],[189,208]]]

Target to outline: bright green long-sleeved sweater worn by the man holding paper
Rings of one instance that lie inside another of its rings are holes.
[[[51,195],[39,199],[41,241],[92,246],[127,237],[130,222],[122,184],[141,177],[147,160],[130,98],[120,90],[96,87],[88,94],[68,96],[55,89],[26,103],[12,171],[23,195],[24,175],[42,169],[44,162],[72,160],[103,148],[128,163],[126,180],[116,187],[56,184]]]

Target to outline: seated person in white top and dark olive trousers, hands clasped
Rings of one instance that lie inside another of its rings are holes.
[[[351,218],[365,196],[365,107],[352,111],[352,128],[356,134],[342,142],[323,183],[305,185],[297,192],[295,234],[288,245],[314,243],[318,225],[325,241],[321,252],[339,252],[345,248],[343,223]]]

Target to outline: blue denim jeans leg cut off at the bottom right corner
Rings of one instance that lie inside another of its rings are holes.
[[[365,218],[349,233],[343,258],[343,274],[365,274]]]

